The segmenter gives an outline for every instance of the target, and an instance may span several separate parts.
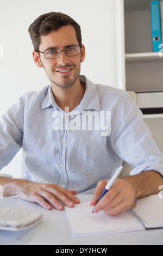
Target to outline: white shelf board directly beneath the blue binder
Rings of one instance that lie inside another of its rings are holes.
[[[126,62],[162,61],[163,52],[142,52],[125,54]]]

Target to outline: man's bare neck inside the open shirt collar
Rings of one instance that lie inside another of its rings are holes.
[[[55,102],[63,111],[66,109],[66,113],[80,104],[85,93],[85,84],[80,82],[79,77],[70,87],[61,88],[51,83],[51,88]]]

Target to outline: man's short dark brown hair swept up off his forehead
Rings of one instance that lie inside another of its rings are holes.
[[[74,27],[77,40],[81,46],[82,35],[79,24],[66,14],[51,11],[51,13],[40,15],[28,28],[34,50],[39,51],[40,35],[47,35],[51,31],[57,31],[60,27],[66,25]]]

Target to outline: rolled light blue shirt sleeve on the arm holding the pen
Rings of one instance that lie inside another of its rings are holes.
[[[143,114],[130,97],[123,99],[112,117],[111,147],[133,165],[130,175],[156,170],[163,175],[163,155],[143,121]]]

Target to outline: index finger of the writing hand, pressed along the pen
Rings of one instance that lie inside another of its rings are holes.
[[[103,210],[106,206],[108,206],[112,200],[115,200],[117,195],[120,193],[119,187],[111,187],[108,192],[102,197],[101,200],[96,204],[93,208],[93,212],[99,212]]]

